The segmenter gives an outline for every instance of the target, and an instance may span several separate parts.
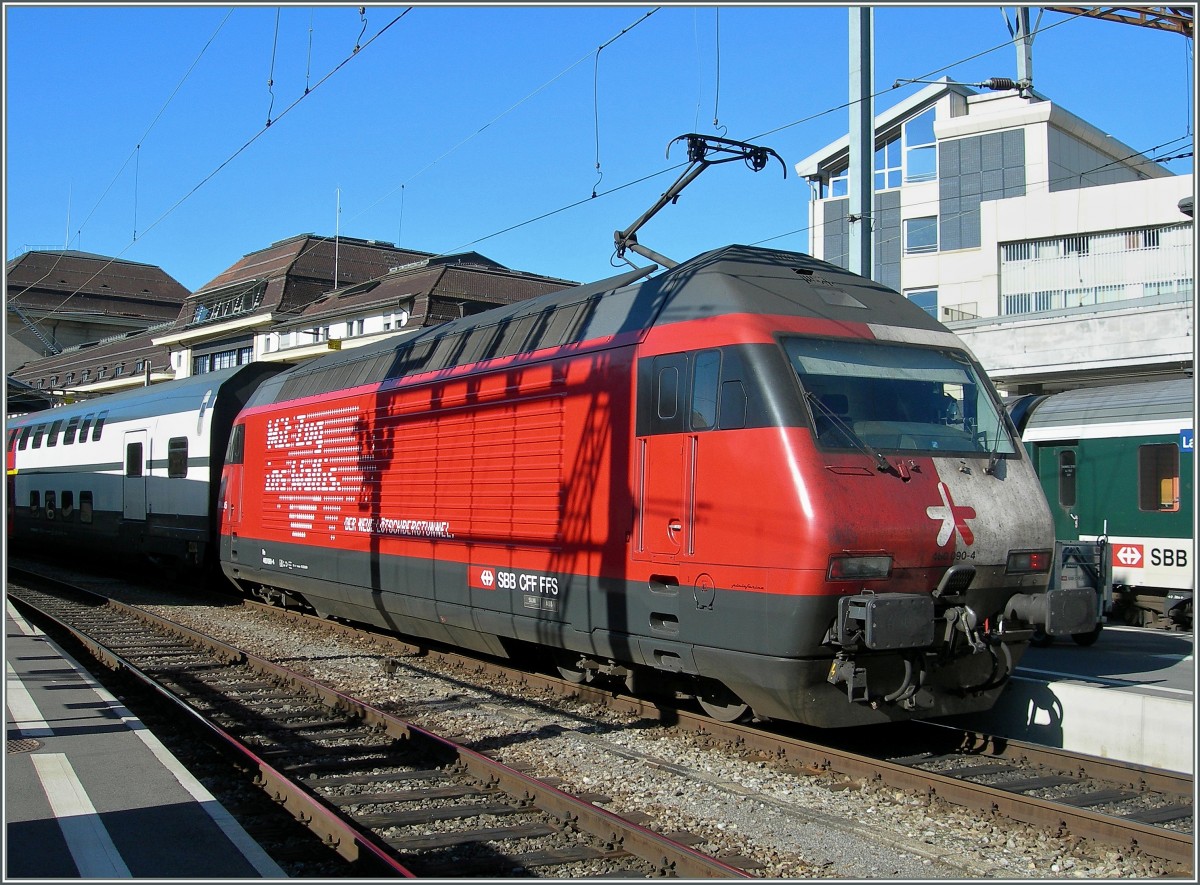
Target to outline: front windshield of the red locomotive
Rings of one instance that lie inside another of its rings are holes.
[[[966,354],[866,341],[785,338],[817,441],[925,454],[1014,453]]]

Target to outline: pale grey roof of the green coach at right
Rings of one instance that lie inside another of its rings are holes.
[[[1145,425],[1165,422],[1175,431],[1192,426],[1194,381],[1142,381],[1111,387],[1081,387],[1055,393],[1033,408],[1025,438],[1050,439],[1075,435],[1079,428],[1097,425]]]

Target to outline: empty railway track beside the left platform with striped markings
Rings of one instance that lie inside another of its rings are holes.
[[[12,574],[10,574],[12,577]],[[41,579],[40,579],[41,580]],[[10,584],[108,667],[190,711],[257,784],[361,869],[389,875],[748,873],[287,668],[78,588]]]

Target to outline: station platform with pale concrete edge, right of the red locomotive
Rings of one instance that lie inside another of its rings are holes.
[[[1192,633],[1105,626],[1031,648],[986,714],[948,720],[1027,743],[1194,775]]]

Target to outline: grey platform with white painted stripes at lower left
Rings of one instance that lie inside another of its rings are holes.
[[[5,881],[286,878],[77,661],[5,606]]]

